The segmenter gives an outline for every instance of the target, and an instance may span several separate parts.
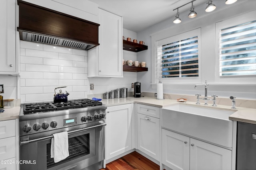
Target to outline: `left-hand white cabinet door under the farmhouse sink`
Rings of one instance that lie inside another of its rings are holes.
[[[189,170],[190,138],[162,129],[162,164],[173,170]]]

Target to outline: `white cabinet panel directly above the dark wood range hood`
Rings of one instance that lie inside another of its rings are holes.
[[[70,16],[98,23],[98,4],[89,0],[24,0]]]

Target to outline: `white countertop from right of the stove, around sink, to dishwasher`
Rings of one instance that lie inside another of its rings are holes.
[[[176,100],[171,100],[171,99],[158,100],[156,98],[150,98],[150,97],[103,99],[101,102],[102,104],[106,104],[108,107],[122,105],[122,104],[130,104],[130,103],[139,103],[139,104],[146,104],[146,105],[156,106],[156,107],[164,107],[164,106],[178,103]],[[186,102],[186,103],[196,105],[194,102]],[[216,109],[216,107],[213,107],[211,105],[204,106],[204,107],[212,107],[213,109]],[[256,109],[244,108],[244,107],[236,107],[236,109],[231,109],[230,106],[224,106],[224,105],[218,105],[217,108],[234,110],[235,112],[229,116],[230,120],[256,124]]]

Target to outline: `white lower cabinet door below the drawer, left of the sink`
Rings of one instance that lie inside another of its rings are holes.
[[[137,114],[138,150],[160,161],[160,119]]]

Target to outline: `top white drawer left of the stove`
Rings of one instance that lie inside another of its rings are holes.
[[[0,139],[15,136],[15,120],[0,121]]]

